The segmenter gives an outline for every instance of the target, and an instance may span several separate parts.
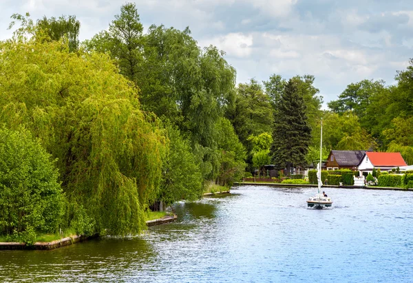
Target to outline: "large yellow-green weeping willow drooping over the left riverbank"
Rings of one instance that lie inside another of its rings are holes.
[[[0,74],[0,123],[23,125],[57,158],[66,224],[138,233],[167,147],[156,118],[140,110],[138,89],[103,54],[21,34],[0,43]]]

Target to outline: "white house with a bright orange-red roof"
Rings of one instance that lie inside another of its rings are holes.
[[[370,152],[367,151],[359,163],[361,174],[368,174],[374,168],[388,171],[393,168],[407,166],[400,152]]]

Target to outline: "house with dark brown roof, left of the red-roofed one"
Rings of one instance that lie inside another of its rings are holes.
[[[328,155],[326,169],[350,169],[356,171],[365,153],[366,151],[364,150],[332,150]]]

